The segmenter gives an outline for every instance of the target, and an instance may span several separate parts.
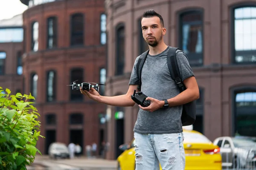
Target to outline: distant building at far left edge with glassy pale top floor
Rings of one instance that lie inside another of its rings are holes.
[[[0,20],[0,87],[12,94],[23,91],[22,15]]]

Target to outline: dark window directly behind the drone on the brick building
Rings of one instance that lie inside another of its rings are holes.
[[[70,73],[70,82],[76,81],[76,83],[83,82],[83,69],[82,68],[73,68]],[[83,95],[81,94],[80,90],[72,90],[70,88],[70,100],[71,101],[82,101]]]

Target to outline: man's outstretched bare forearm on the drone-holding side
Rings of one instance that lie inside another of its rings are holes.
[[[134,106],[135,102],[127,94],[119,96],[100,96],[100,103],[112,106]]]

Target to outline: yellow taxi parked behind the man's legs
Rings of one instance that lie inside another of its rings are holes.
[[[186,154],[185,170],[222,170],[220,148],[198,131],[183,128]],[[117,158],[118,170],[135,170],[134,139],[122,144],[124,152]],[[160,170],[162,168],[160,167]]]

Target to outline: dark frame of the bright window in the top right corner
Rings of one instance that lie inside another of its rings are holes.
[[[237,8],[245,8],[245,7],[256,7],[256,3],[239,3],[230,8],[230,51],[231,51],[231,64],[232,65],[255,65],[256,62],[236,62],[235,55],[235,10]],[[255,50],[256,51],[256,50]],[[245,51],[245,54],[248,51]],[[244,54],[244,52],[243,52]]]

